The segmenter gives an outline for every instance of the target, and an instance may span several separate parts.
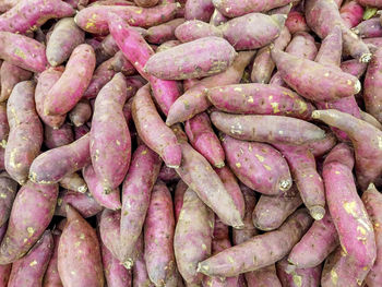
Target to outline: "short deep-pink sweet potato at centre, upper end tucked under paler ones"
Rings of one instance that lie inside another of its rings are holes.
[[[201,153],[211,165],[224,167],[224,151],[220,141],[212,129],[208,116],[203,112],[188,120],[184,131],[191,145]]]

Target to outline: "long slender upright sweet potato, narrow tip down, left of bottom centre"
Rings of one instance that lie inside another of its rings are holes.
[[[162,160],[146,145],[140,145],[132,157],[122,187],[120,253],[122,263],[133,264],[132,254],[147,213],[150,198],[158,177]]]

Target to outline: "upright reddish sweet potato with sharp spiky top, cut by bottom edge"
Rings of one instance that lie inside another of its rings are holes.
[[[97,235],[92,226],[67,205],[68,223],[58,247],[58,271],[64,287],[104,286]]]

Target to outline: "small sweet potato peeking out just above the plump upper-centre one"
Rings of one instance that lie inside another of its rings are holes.
[[[182,43],[192,41],[203,37],[223,37],[223,33],[214,25],[200,20],[190,20],[175,29],[175,36]]]

